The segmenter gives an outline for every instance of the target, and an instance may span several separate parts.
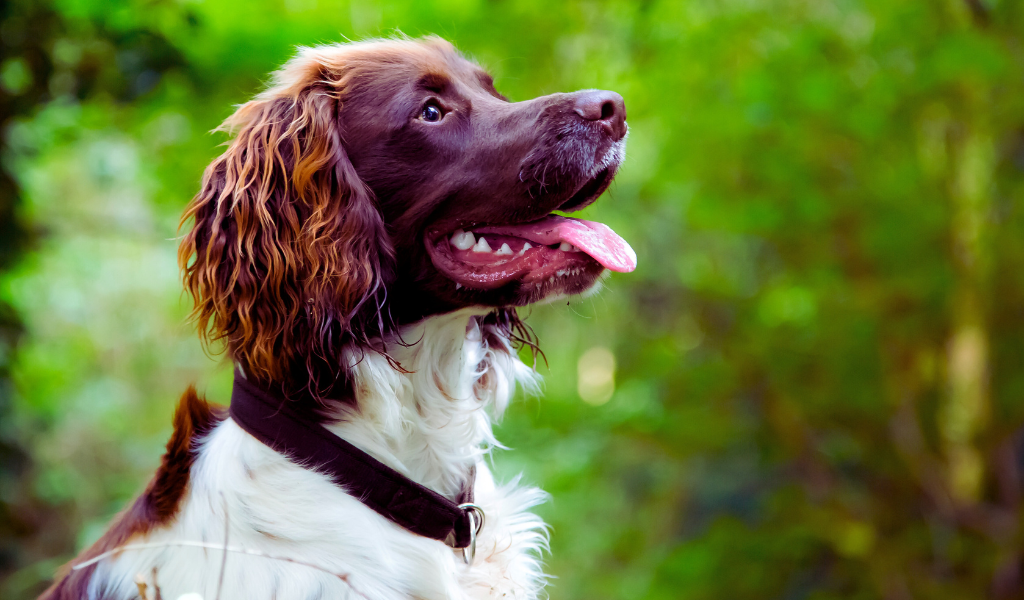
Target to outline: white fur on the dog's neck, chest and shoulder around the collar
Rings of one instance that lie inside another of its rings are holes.
[[[136,574],[156,567],[164,598],[191,592],[211,600],[218,589],[222,600],[538,597],[547,533],[528,509],[544,494],[515,481],[496,485],[482,460],[497,443],[485,409],[500,416],[517,383],[531,386],[534,374],[497,328],[480,325],[480,312],[435,316],[403,331],[409,345],[388,350],[409,374],[378,353],[350,353],[357,401],[338,406],[340,420],[329,426],[449,497],[475,465],[475,502],[486,523],[472,566],[461,551],[407,531],[228,419],[201,441],[176,519],[132,540],[169,546],[103,561],[92,596],[134,598]],[[228,552],[224,560],[219,550],[170,546],[185,541],[264,556]]]

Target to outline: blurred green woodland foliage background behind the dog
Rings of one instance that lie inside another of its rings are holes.
[[[640,266],[524,311],[546,390],[499,431],[552,598],[1024,597],[1022,4],[0,4],[0,597],[140,490],[188,382],[228,399],[175,263],[209,130],[295,45],[395,31],[626,98],[584,216]]]

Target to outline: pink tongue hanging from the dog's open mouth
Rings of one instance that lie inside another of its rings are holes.
[[[516,235],[544,245],[568,242],[613,271],[628,273],[637,267],[636,252],[604,223],[552,215],[516,229]]]

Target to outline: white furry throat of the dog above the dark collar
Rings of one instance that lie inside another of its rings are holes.
[[[387,352],[347,353],[355,402],[326,427],[410,479],[455,498],[470,467],[498,445],[500,419],[516,385],[536,373],[481,310],[432,316],[388,340]]]

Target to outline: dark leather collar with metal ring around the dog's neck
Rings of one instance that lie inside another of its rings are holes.
[[[325,473],[392,522],[452,548],[470,546],[475,521],[459,504],[473,501],[475,469],[460,503],[453,502],[301,416],[284,396],[248,381],[238,370],[229,414],[253,437],[293,463]]]

